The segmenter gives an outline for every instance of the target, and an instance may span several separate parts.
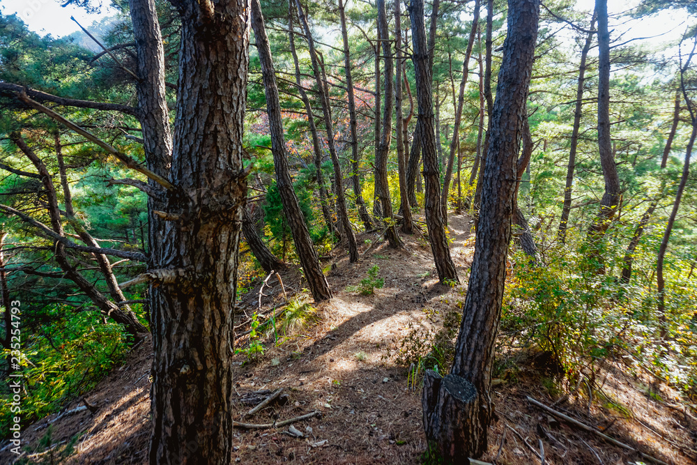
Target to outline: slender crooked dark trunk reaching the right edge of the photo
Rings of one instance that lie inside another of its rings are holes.
[[[693,49],[694,54],[694,49]],[[690,59],[692,58],[690,55]],[[684,65],[687,68],[690,60]],[[684,73],[684,69],[682,70]],[[685,84],[682,82],[682,91],[684,90]],[[677,218],[677,210],[680,208],[680,201],[682,200],[682,194],[685,190],[685,185],[687,185],[687,179],[690,174],[690,158],[692,155],[692,148],[695,144],[695,139],[697,137],[697,115],[692,109],[687,95],[685,95],[685,101],[687,102],[687,107],[690,112],[691,122],[692,122],[692,133],[690,135],[689,142],[687,142],[687,147],[685,148],[685,162],[682,166],[682,177],[680,178],[680,184],[677,186],[677,192],[675,192],[675,202],[673,203],[673,210],[671,211],[671,216],[668,217],[668,224],[666,224],[666,231],[663,235],[663,240],[661,241],[661,247],[658,250],[658,258],[656,264],[656,278],[658,284],[658,317],[661,322],[661,339],[665,339],[668,335],[668,326],[666,318],[666,280],[663,275],[663,263],[666,258],[666,251],[668,250],[668,241],[671,240],[671,232],[673,232],[673,224],[675,224],[675,218]]]

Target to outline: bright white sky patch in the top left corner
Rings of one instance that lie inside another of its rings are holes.
[[[0,0],[0,10],[3,15],[17,15],[29,25],[29,29],[40,35],[52,34],[55,38],[68,36],[77,31],[75,22],[70,20],[71,16],[83,26],[89,26],[94,20],[108,16],[113,13],[107,7],[108,0],[103,1],[101,13],[88,15],[82,8],[74,6],[61,7],[56,0]]]

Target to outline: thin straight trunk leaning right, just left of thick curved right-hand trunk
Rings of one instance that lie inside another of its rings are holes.
[[[566,241],[566,231],[571,212],[571,196],[574,185],[574,170],[576,169],[576,148],[579,146],[579,130],[581,128],[581,116],[583,115],[583,87],[585,85],[585,61],[588,58],[588,50],[595,35],[595,13],[590,21],[590,32],[585,38],[585,44],[581,50],[581,65],[579,66],[579,82],[576,86],[576,109],[574,109],[574,128],[571,133],[571,148],[569,149],[569,165],[567,167],[566,187],[564,188],[564,205],[562,206],[562,218],[559,222],[558,240],[563,244]]]

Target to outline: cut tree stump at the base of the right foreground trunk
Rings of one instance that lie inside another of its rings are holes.
[[[470,455],[478,457],[484,452],[486,429],[482,437],[478,428],[468,427],[479,423],[479,404],[477,389],[470,381],[427,370],[422,395],[424,431],[445,464],[468,464]]]

